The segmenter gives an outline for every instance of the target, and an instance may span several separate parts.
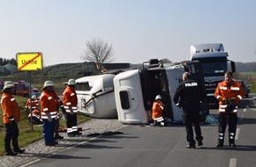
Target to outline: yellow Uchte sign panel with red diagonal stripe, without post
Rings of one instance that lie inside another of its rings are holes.
[[[28,52],[16,54],[18,70],[41,70],[42,69],[42,54],[41,52]]]

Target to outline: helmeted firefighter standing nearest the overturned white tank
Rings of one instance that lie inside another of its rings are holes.
[[[76,81],[74,79],[70,79],[63,92],[68,136],[75,136],[76,134],[81,134],[79,133],[77,127],[78,98],[75,91],[75,85]]]

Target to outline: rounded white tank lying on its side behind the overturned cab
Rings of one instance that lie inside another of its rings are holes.
[[[117,118],[113,78],[115,75],[84,76],[76,80],[78,110],[100,119]]]

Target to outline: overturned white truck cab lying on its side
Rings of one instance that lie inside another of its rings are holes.
[[[147,124],[149,112],[156,95],[162,95],[164,117],[174,122],[182,121],[181,108],[173,101],[177,85],[184,71],[192,74],[202,85],[204,79],[200,62],[181,62],[164,67],[158,60],[144,62],[142,69],[132,69],[114,77],[118,120],[124,124]],[[202,108],[208,114],[206,107]]]

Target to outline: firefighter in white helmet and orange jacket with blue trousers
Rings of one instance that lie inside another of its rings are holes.
[[[43,84],[41,92],[41,120],[42,134],[45,146],[55,146],[57,142],[54,139],[55,123],[57,117],[56,100],[52,97],[51,92],[54,91],[52,81],[46,81]]]

